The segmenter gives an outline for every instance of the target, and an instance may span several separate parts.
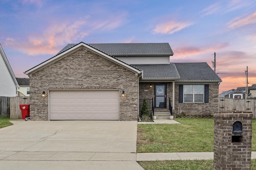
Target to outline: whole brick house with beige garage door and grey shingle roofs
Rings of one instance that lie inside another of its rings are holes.
[[[156,111],[213,115],[222,81],[207,63],[170,63],[168,43],[69,44],[27,70],[32,120],[137,120]]]

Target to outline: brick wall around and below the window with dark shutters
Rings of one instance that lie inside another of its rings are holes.
[[[176,117],[213,117],[213,114],[218,112],[218,92],[218,83],[209,84],[209,103],[179,103],[179,85],[175,84],[173,113]]]

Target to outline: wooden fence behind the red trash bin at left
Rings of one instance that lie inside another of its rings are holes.
[[[29,97],[0,96],[0,116],[10,117],[10,119],[22,119],[20,104],[29,104]]]

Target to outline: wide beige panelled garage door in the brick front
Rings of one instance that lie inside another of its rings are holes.
[[[118,90],[50,91],[50,120],[118,120]]]

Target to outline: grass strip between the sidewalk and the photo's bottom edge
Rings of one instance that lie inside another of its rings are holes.
[[[213,160],[164,160],[138,162],[144,170],[213,170]],[[252,159],[251,170],[256,170]]]

